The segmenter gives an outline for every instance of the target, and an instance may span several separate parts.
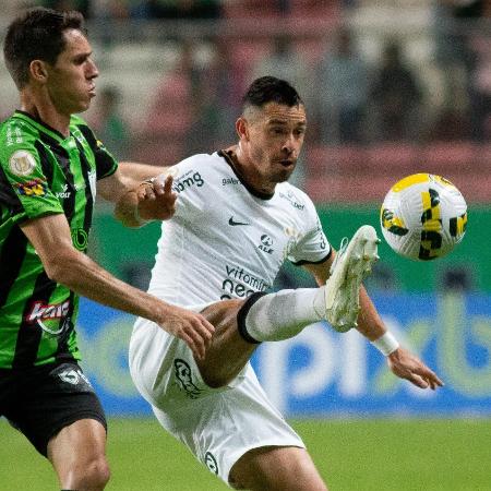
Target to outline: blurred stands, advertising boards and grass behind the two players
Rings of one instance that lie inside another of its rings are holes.
[[[337,246],[379,228],[388,188],[427,171],[468,202],[447,258],[412,263],[381,244],[369,291],[397,336],[446,385],[414,390],[349,333],[322,324],[260,348],[254,364],[306,438],[332,490],[491,490],[491,2],[484,0],[3,0],[86,13],[100,69],[85,115],[121,159],[169,165],[233,142],[240,94],[256,75],[290,80],[309,135],[295,180]],[[0,69],[0,116],[16,92]],[[380,228],[379,228],[380,230]],[[148,282],[158,225],[120,227],[98,203],[91,253]],[[277,287],[310,279],[285,267]],[[110,416],[113,490],[225,489],[149,419],[129,378],[132,318],[84,301],[84,367]],[[49,468],[0,421],[0,490],[56,489]]]

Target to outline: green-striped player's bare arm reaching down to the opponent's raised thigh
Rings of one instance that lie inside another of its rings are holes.
[[[214,327],[201,314],[170,306],[116,278],[72,246],[64,215],[47,215],[21,226],[49,278],[96,302],[140,315],[183,339],[202,358]],[[56,253],[53,253],[56,251]]]

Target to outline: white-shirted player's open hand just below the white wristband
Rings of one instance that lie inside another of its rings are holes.
[[[408,380],[417,387],[434,391],[436,387],[443,386],[443,382],[432,370],[418,357],[402,347],[388,355],[387,364],[395,375]]]

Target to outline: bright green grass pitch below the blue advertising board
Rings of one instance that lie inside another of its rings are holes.
[[[298,421],[330,491],[491,491],[491,420]],[[0,491],[59,489],[50,465],[0,420]],[[154,420],[109,421],[109,491],[228,489]]]

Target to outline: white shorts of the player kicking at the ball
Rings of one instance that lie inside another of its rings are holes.
[[[229,385],[208,387],[184,342],[139,319],[130,340],[130,372],[160,424],[227,484],[233,464],[252,448],[304,448],[250,363]]]

